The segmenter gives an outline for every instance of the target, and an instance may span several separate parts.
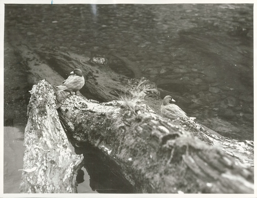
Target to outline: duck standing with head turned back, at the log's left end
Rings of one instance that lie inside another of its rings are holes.
[[[62,82],[61,85],[57,86],[58,92],[75,92],[77,96],[77,91],[79,91],[85,84],[85,79],[83,76],[83,72],[80,69],[73,70],[65,81]]]

